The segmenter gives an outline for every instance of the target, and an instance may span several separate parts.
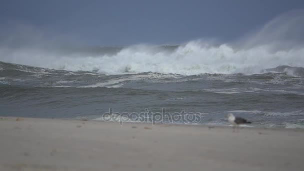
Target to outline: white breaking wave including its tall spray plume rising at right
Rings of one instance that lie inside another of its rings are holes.
[[[125,47],[115,55],[63,55],[38,48],[0,48],[0,60],[37,67],[105,74],[158,72],[195,75],[200,73],[260,73],[289,65],[304,67],[304,12],[278,16],[259,31],[234,43],[214,45],[196,40],[175,50],[151,45]]]

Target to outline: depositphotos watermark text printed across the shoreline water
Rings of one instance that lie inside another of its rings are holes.
[[[113,113],[113,108],[109,108],[109,112],[103,114],[104,121],[119,122],[123,125],[124,122],[146,122],[152,123],[199,123],[201,121],[201,113],[186,113],[184,110],[181,112],[166,112],[165,108],[162,108],[162,112],[152,112],[152,110],[145,109],[145,112],[123,112]]]

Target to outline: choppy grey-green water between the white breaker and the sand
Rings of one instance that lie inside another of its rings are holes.
[[[0,62],[1,116],[101,120],[109,108],[119,113],[184,110],[200,118],[178,124],[229,125],[231,112],[252,126],[303,127],[304,68],[279,66],[255,74],[102,74]]]

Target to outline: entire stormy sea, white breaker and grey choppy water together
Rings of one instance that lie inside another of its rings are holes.
[[[103,120],[110,110],[165,110],[199,119],[159,122],[229,125],[234,113],[254,127],[304,127],[304,48],[191,41],[56,51],[22,49],[0,62],[1,116]]]

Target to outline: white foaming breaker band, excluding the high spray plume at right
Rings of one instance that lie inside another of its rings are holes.
[[[256,74],[261,70],[289,65],[304,66],[304,47],[298,49],[269,51],[267,47],[234,49],[222,44],[209,46],[192,41],[168,52],[153,51],[149,46],[135,46],[122,49],[116,55],[108,56],[50,56],[47,53],[26,53],[15,51],[13,57],[4,62],[68,71],[89,71],[102,74],[125,74],[157,72],[164,74],[195,75],[201,73],[243,73]]]

